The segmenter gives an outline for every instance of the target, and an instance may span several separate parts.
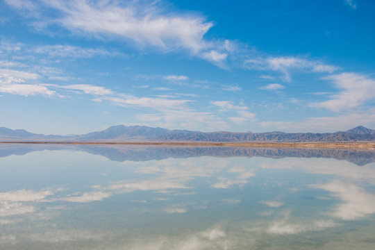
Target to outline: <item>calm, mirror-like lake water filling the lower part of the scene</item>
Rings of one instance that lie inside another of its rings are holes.
[[[0,249],[375,249],[375,152],[0,144]]]

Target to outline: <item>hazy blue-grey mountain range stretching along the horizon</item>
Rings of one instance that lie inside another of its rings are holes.
[[[0,142],[374,142],[375,130],[357,126],[335,133],[209,132],[148,126],[111,126],[84,135],[43,135],[0,127]]]

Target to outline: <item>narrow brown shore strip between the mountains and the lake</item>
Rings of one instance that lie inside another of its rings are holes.
[[[309,149],[375,149],[375,142],[0,142],[1,144],[83,144],[194,147],[283,147]]]

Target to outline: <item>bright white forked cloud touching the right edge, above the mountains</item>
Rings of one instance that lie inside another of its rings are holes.
[[[338,89],[338,94],[331,100],[311,103],[310,106],[328,108],[335,112],[356,108],[367,101],[375,100],[375,80],[362,74],[342,73],[326,76],[324,80],[331,81]]]

